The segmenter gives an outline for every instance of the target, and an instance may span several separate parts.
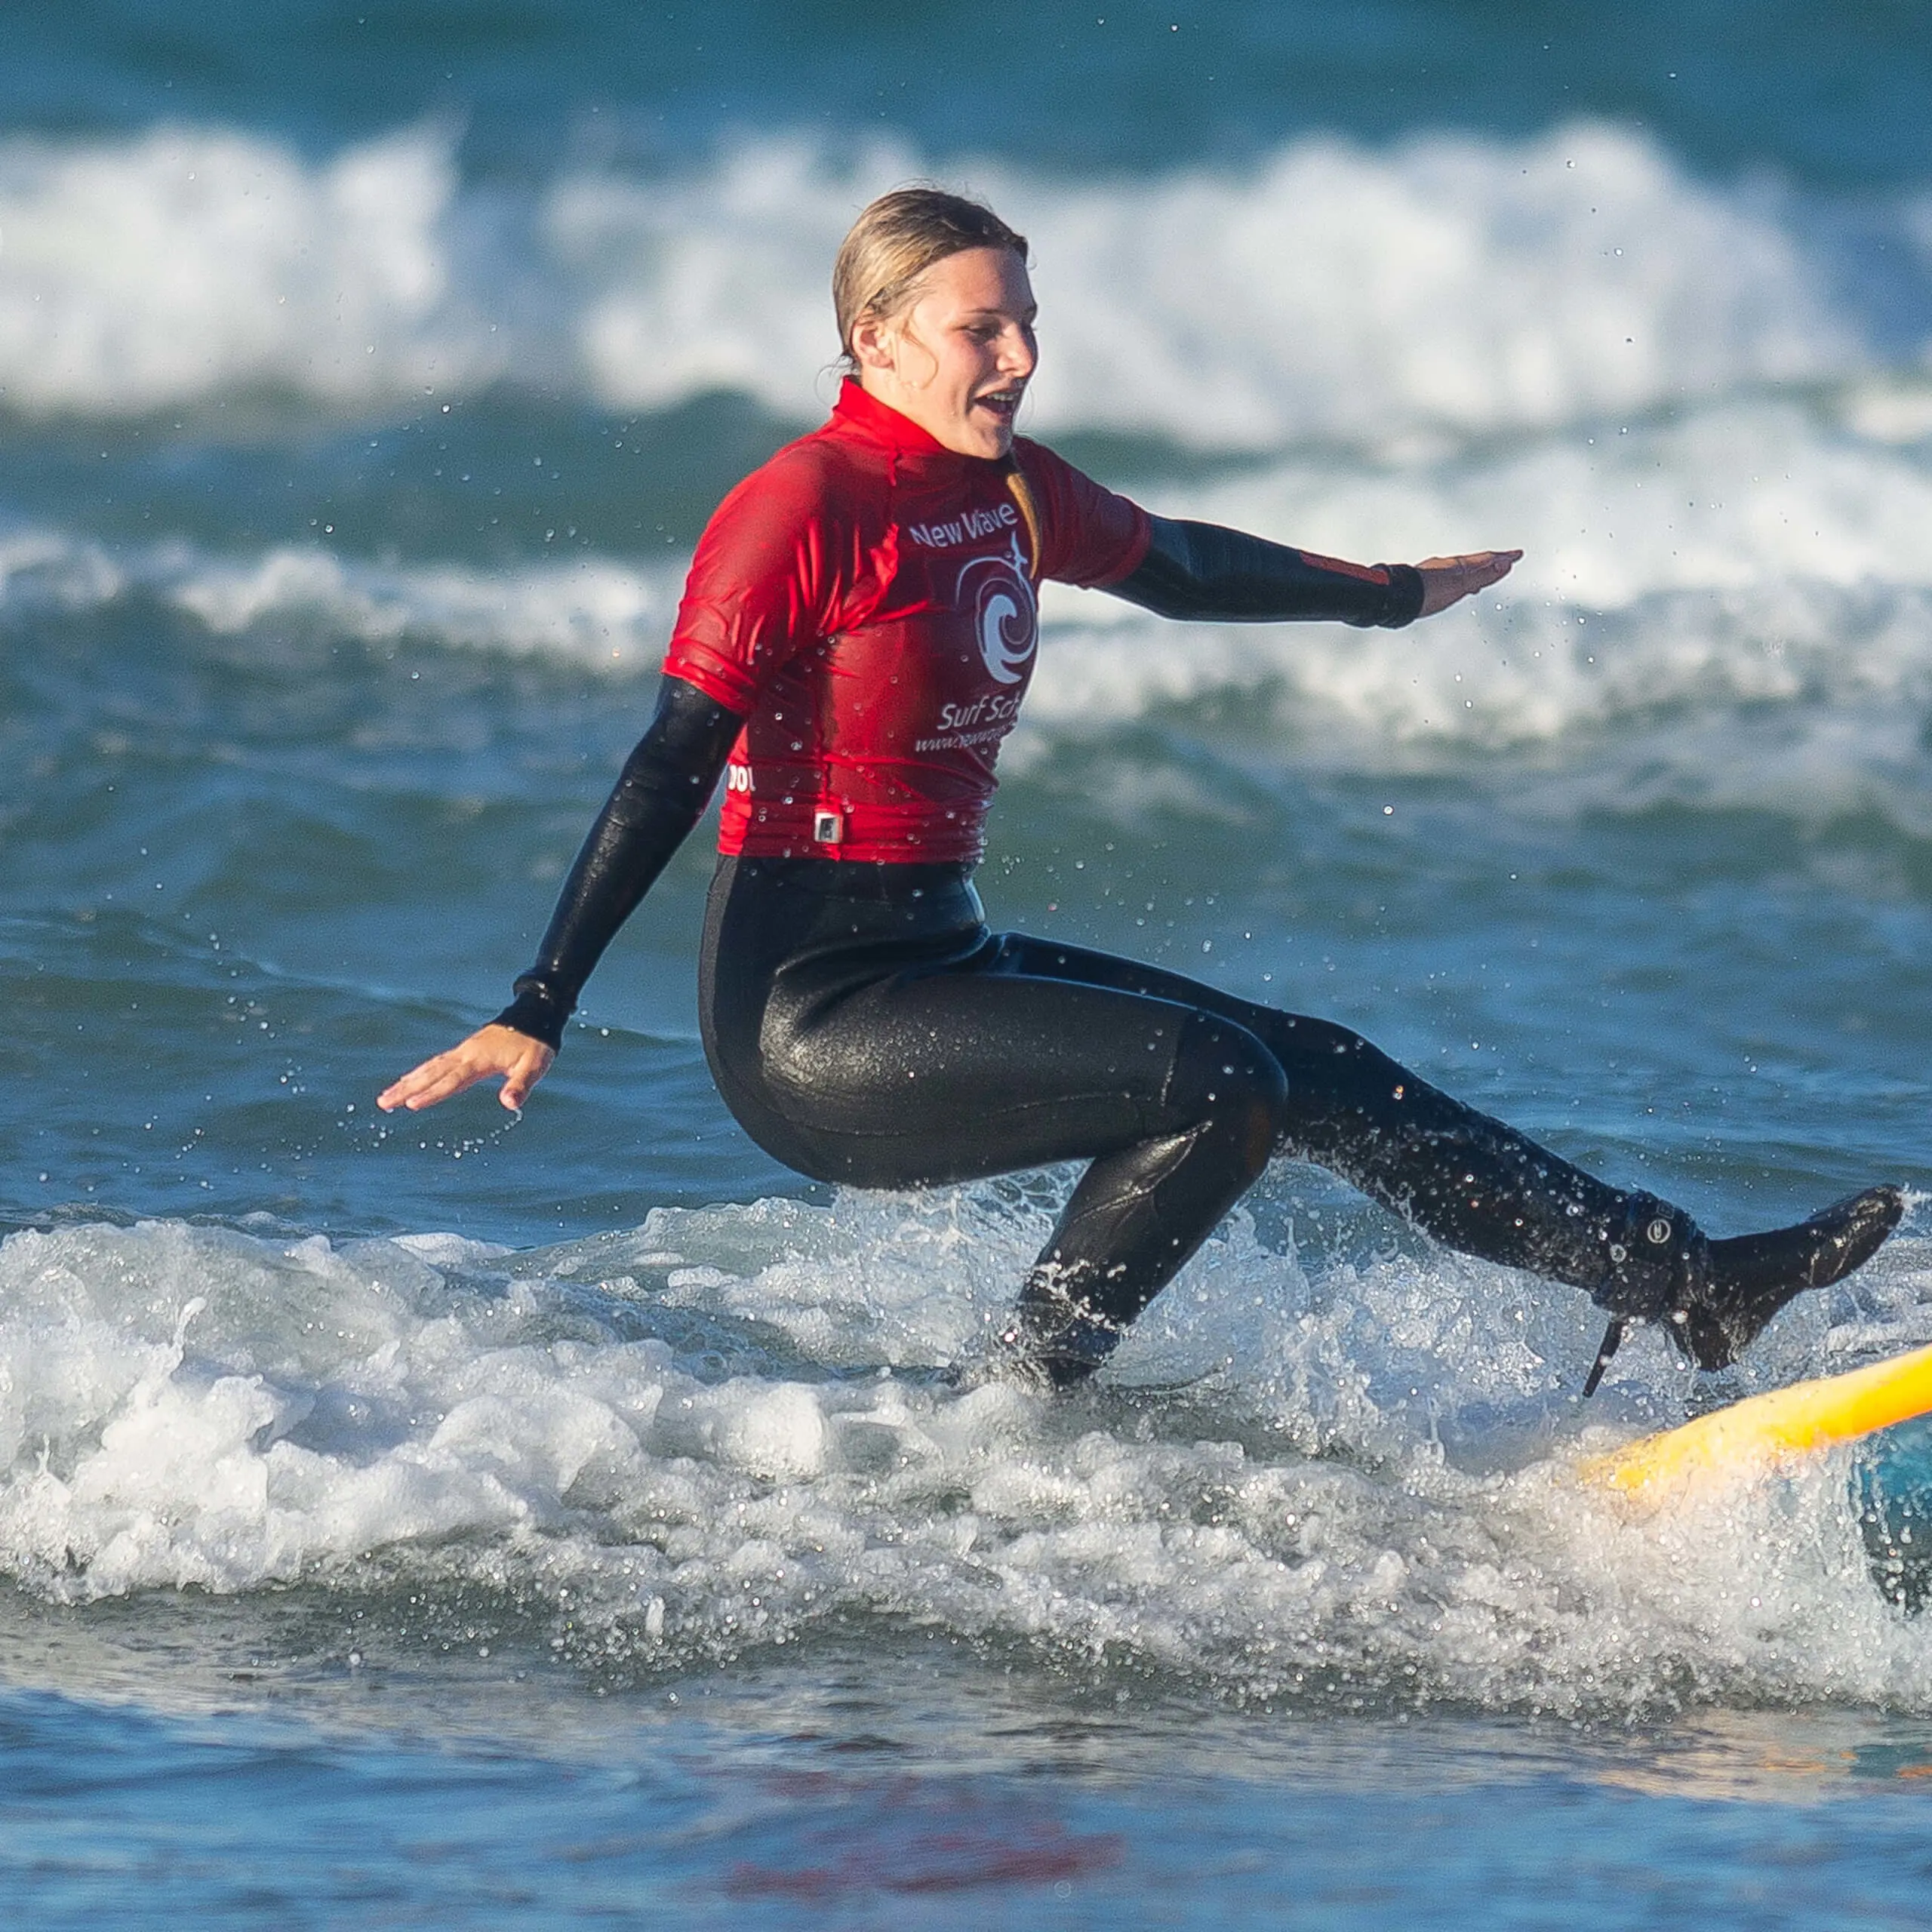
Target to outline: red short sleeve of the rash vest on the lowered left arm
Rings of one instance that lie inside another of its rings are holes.
[[[665,672],[740,717],[794,651],[850,614],[842,535],[852,520],[827,516],[840,483],[831,464],[810,442],[781,450],[697,539]]]

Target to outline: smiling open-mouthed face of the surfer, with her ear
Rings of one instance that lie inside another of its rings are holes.
[[[972,247],[933,263],[891,319],[852,328],[866,390],[960,456],[1005,456],[1039,361],[1034,284],[1010,249]]]

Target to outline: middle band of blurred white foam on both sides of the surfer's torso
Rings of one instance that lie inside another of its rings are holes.
[[[1748,396],[1428,460],[1302,452],[1161,485],[1157,510],[1343,556],[1492,543],[1526,556],[1495,595],[1406,632],[1177,626],[1049,585],[1005,767],[1068,732],[1240,694],[1296,757],[1387,769],[1542,748],[1573,777],[1578,759],[1602,767],[1573,804],[1876,808],[1928,831],[1932,462],[1903,435],[1915,394],[1891,381]],[[1884,437],[1866,433],[1880,406]],[[415,641],[634,676],[661,655],[680,570],[587,553],[500,568],[323,545],[224,554],[15,527],[0,533],[0,614],[151,597],[263,649],[278,634]]]

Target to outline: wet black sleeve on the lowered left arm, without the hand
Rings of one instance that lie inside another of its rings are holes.
[[[516,981],[516,999],[497,1014],[498,1026],[553,1049],[562,1045],[583,981],[703,815],[742,723],[682,678],[665,678],[651,728],[597,813],[537,962]]]

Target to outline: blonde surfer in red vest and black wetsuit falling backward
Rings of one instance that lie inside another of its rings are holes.
[[[1277,1153],[1449,1248],[1586,1291],[1611,1314],[1586,1393],[1627,1320],[1725,1366],[1793,1294],[1876,1252],[1895,1188],[1714,1240],[1343,1026],[987,927],[972,871],[1041,580],[1196,622],[1403,626],[1520,556],[1352,564],[1103,489],[1014,435],[1037,363],[1026,265],[1026,240],[958,195],[900,189],[860,214],[833,270],[831,421],[711,518],[657,715],[514,1001],[379,1103],[417,1111],[500,1078],[522,1107],[723,777],[699,1018],[744,1130],[848,1186],[1088,1163],[999,1337],[1012,1372],[1092,1376]]]

